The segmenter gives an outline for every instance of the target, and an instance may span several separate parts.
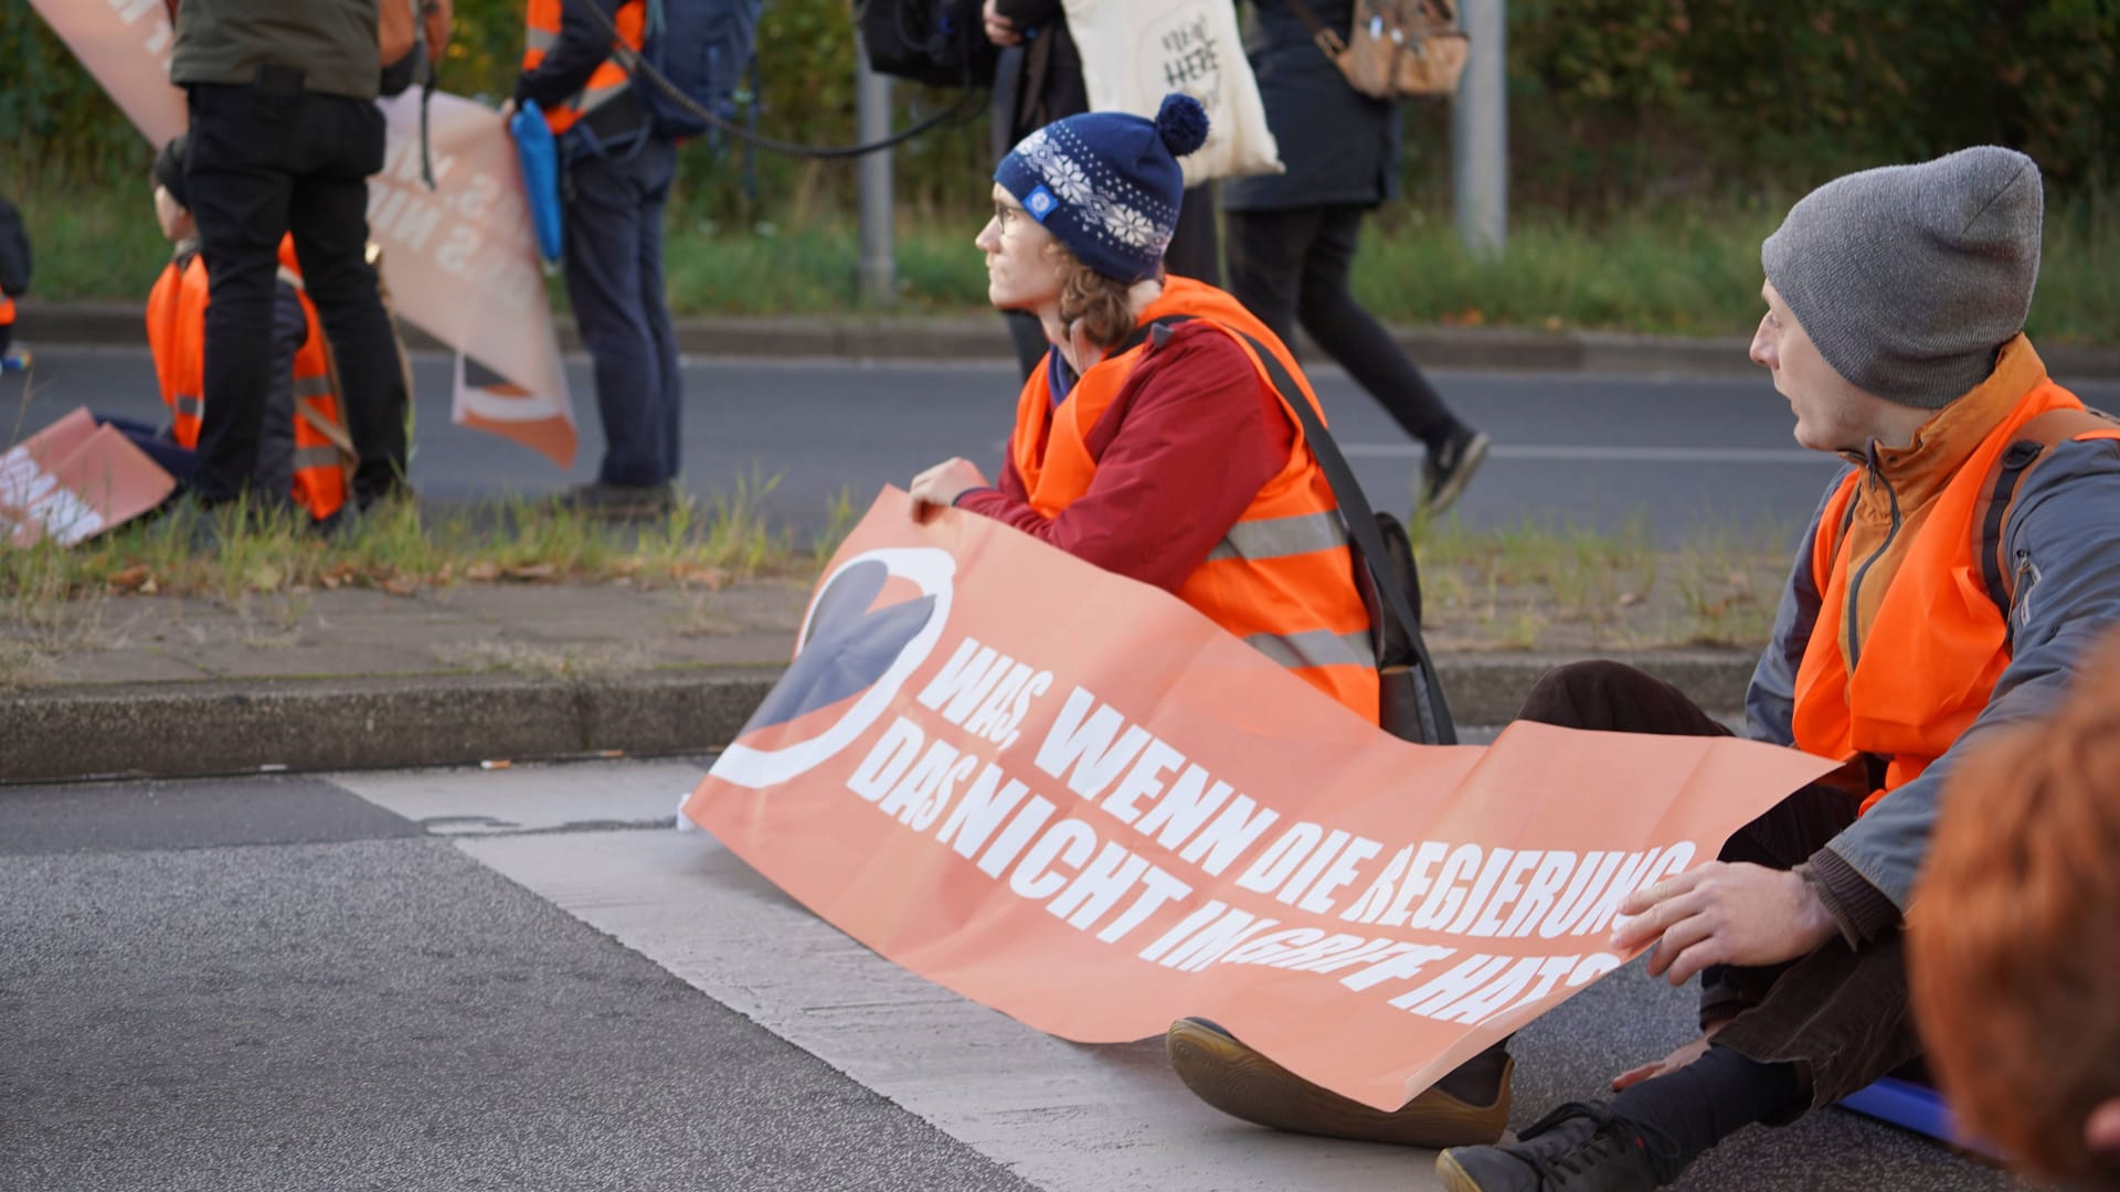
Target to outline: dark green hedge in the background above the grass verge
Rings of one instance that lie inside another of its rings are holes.
[[[78,0],[89,2],[89,0]],[[519,0],[458,0],[443,87],[502,95]],[[1520,208],[1607,216],[1747,204],[1857,165],[1995,142],[2037,157],[2063,195],[2120,178],[2120,0],[1509,0],[1512,191]],[[42,19],[0,4],[0,187],[138,176],[148,146]],[[901,119],[950,95],[899,87]],[[767,0],[755,119],[806,142],[854,136],[848,0]],[[1410,110],[1408,193],[1448,199],[1448,115]],[[687,148],[685,210],[801,225],[852,206],[848,163]],[[986,121],[897,155],[899,204],[982,201]]]

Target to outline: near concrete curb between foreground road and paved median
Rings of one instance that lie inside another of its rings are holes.
[[[1743,704],[1753,658],[1660,651],[1626,662],[1700,706]],[[1503,723],[1571,658],[1446,655],[1459,723]],[[778,670],[664,670],[553,681],[517,674],[53,687],[0,700],[0,783],[182,778],[271,770],[390,770],[485,759],[721,749]]]

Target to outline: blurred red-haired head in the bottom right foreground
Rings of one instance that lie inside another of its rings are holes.
[[[1914,1022],[1959,1130],[2120,1190],[2120,636],[2039,725],[1980,742],[1906,925]]]

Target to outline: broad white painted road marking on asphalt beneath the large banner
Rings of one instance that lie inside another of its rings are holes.
[[[668,814],[689,766],[348,774],[428,821]],[[522,787],[522,789],[515,789]],[[884,961],[704,831],[475,836],[466,855],[1052,1192],[1423,1190],[1431,1154],[1247,1126],[1179,1084],[1162,1039],[1077,1046]]]

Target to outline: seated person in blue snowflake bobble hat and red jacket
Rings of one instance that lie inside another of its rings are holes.
[[[1236,299],[1164,274],[1177,159],[1204,140],[1206,112],[1172,93],[1153,123],[1077,115],[1001,161],[977,235],[986,293],[1035,314],[1052,348],[1018,399],[999,486],[952,458],[912,496],[1174,592],[1376,723],[1376,653],[1338,505],[1283,405],[1317,397]],[[1191,320],[1158,327],[1166,316]],[[1302,392],[1278,392],[1257,352]]]

